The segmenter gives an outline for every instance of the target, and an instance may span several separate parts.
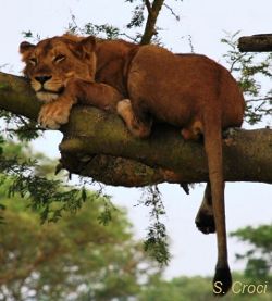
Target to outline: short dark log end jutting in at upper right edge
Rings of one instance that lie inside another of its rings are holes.
[[[239,51],[270,52],[272,51],[272,34],[240,37],[238,40]]]

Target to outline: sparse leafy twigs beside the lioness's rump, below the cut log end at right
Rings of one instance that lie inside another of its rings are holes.
[[[222,42],[230,47],[223,58],[244,91],[246,121],[255,125],[260,121],[265,121],[265,116],[271,117],[272,114],[272,89],[269,85],[272,77],[272,53],[239,52],[238,34],[239,32],[233,35],[227,34],[222,39]],[[268,121],[271,122],[271,118]]]

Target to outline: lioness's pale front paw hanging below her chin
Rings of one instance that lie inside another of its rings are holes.
[[[58,129],[69,122],[71,108],[72,104],[58,100],[44,104],[39,112],[38,123],[44,128]]]

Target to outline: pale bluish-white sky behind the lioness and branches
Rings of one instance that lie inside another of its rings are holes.
[[[272,33],[270,0],[184,0],[166,2],[181,16],[177,22],[165,8],[159,16],[162,41],[175,52],[194,51],[222,62],[226,47],[220,39],[227,33],[240,30],[239,36]],[[23,40],[22,32],[32,30],[41,38],[61,35],[76,17],[78,26],[112,24],[125,30],[133,5],[124,0],[9,0],[0,7],[0,66],[1,71],[20,74],[23,68],[17,52]],[[59,158],[61,134],[48,131],[34,146],[52,158]],[[205,236],[195,227],[195,215],[200,204],[205,185],[197,185],[186,196],[177,185],[160,185],[164,201],[165,225],[171,239],[172,261],[165,277],[178,275],[212,275],[217,260],[214,235]],[[137,238],[144,238],[148,226],[148,209],[135,206],[141,191],[134,188],[107,187],[116,204],[127,208]],[[226,184],[227,231],[247,225],[271,223],[272,187],[265,184]],[[228,238],[230,264],[239,269],[244,264],[235,261],[235,253],[243,252],[245,244]]]

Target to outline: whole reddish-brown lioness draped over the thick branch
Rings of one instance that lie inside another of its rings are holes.
[[[46,102],[39,114],[45,127],[58,128],[67,123],[72,105],[81,101],[116,110],[137,137],[149,136],[153,120],[180,127],[185,139],[203,136],[210,183],[197,223],[200,230],[212,231],[209,221],[212,224],[214,215],[218,263],[213,284],[225,293],[232,277],[221,133],[242,125],[245,108],[232,75],[203,55],[176,55],[157,46],[96,41],[94,37],[64,35],[37,46],[22,42],[20,51],[26,63],[25,75],[37,98]]]

